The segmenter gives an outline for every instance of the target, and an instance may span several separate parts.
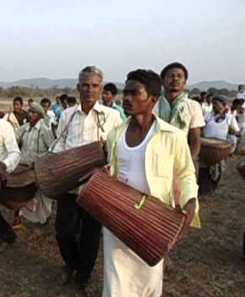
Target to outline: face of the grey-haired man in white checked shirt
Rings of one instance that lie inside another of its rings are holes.
[[[80,104],[84,113],[88,114],[102,93],[102,78],[95,73],[83,74],[77,89]]]

